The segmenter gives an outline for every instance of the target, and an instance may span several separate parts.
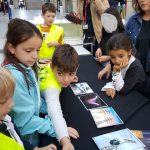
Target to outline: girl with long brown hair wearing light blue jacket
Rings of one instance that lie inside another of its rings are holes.
[[[16,87],[15,106],[10,115],[20,133],[31,144],[38,144],[38,133],[55,136],[49,118],[40,118],[40,91],[36,75],[36,61],[42,44],[39,30],[31,23],[13,19],[8,24],[3,66],[10,70]]]

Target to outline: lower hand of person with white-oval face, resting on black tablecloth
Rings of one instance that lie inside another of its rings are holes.
[[[111,74],[111,65],[110,65],[110,64],[107,64],[107,65],[105,66],[105,68],[103,68],[103,69],[98,73],[98,79],[99,79],[99,80],[102,80],[102,77],[103,77],[103,76],[106,76],[106,79],[108,79],[109,76],[110,76],[110,74]]]

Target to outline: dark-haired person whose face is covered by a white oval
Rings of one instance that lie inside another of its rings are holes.
[[[118,12],[118,10],[114,7],[107,8],[105,12],[101,16],[101,22],[102,22],[102,39],[100,42],[100,49],[96,51],[95,56],[96,60],[106,65],[106,67],[101,70],[98,73],[98,78],[101,79],[103,76],[104,71],[107,69],[108,62],[110,60],[110,56],[108,56],[106,51],[106,43],[108,39],[116,34],[116,33],[122,33],[124,32],[124,26],[121,19],[121,16]],[[107,78],[109,76],[109,73],[107,75]]]

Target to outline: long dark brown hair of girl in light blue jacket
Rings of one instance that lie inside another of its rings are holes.
[[[13,45],[13,47],[17,47],[20,43],[27,41],[35,35],[37,35],[42,40],[40,31],[32,23],[18,18],[12,19],[8,24],[8,31],[6,34],[7,40],[4,46],[5,61],[13,64],[19,71],[23,73],[28,88],[29,79],[27,78],[25,69],[20,65],[19,60],[9,51],[8,44],[10,43]],[[3,62],[3,65],[5,65],[5,61]],[[32,68],[36,73],[36,63]]]

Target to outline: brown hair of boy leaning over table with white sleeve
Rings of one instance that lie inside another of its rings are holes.
[[[79,55],[69,44],[56,48],[52,57],[52,67],[58,67],[63,72],[75,72],[79,66]]]

